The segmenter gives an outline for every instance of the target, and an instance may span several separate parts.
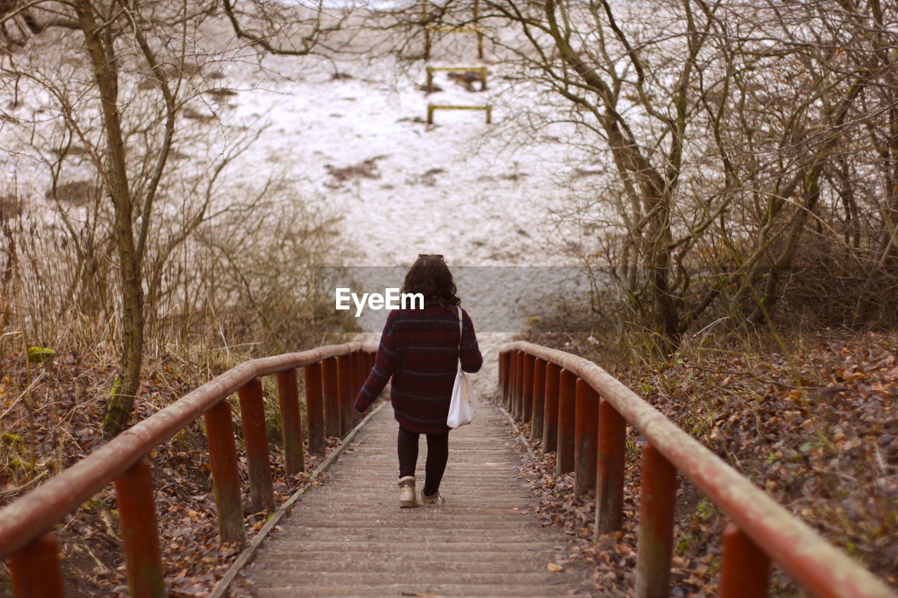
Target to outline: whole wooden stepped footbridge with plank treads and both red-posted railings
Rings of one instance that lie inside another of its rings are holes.
[[[322,452],[325,435],[344,435],[345,450],[322,463],[330,466],[331,479],[304,488],[277,509],[212,595],[232,590],[257,596],[613,595],[588,581],[584,565],[557,565],[570,540],[542,527],[533,515],[533,497],[521,487],[519,456],[505,425],[510,411],[532,422],[532,434],[556,453],[559,474],[574,472],[577,492],[594,488],[597,532],[621,526],[626,427],[646,438],[631,593],[638,598],[669,594],[678,472],[732,521],[721,548],[721,595],[767,595],[770,567],[776,565],[814,596],[894,598],[875,576],[598,365],[524,342],[500,352],[498,404],[483,405],[475,424],[450,436],[441,488],[445,504],[400,510],[390,406],[360,422],[350,407],[373,357],[374,347],[347,344],[245,362],[5,506],[0,558],[9,560],[14,594],[63,595],[52,528],[114,484],[130,594],[166,596],[146,455],[200,417],[207,429],[219,535],[242,542],[243,496],[227,398],[239,396],[251,510],[270,509],[260,377],[276,375],[287,472],[302,469],[304,450]],[[299,369],[305,381],[305,440]]]

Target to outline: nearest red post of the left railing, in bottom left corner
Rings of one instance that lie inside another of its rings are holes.
[[[59,542],[47,532],[16,550],[9,558],[15,598],[63,598]]]

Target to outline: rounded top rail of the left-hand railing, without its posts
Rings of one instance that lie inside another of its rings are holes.
[[[145,454],[254,378],[358,350],[375,351],[376,348],[376,345],[357,342],[325,345],[298,353],[251,359],[217,375],[0,509],[0,560],[47,531],[85,500],[109,486]]]

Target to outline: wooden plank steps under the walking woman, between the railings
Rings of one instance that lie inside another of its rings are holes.
[[[585,567],[566,563],[572,541],[541,527],[522,488],[505,416],[482,405],[471,426],[449,436],[445,504],[399,508],[392,409],[357,436],[357,446],[306,492],[240,576],[239,595],[599,596]],[[423,486],[425,439],[418,456]]]

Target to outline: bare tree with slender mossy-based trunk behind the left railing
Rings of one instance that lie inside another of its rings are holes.
[[[229,48],[240,48],[248,41],[263,52],[304,55],[324,35],[339,29],[339,18],[321,11],[295,22],[290,15],[298,8],[274,11],[268,3],[250,4],[240,10],[232,3],[223,4],[235,40]],[[92,191],[92,183],[82,189],[93,196],[93,209],[87,216],[93,223],[92,233],[97,232],[105,211],[110,212],[118,297],[109,307],[118,313],[120,349],[119,374],[103,426],[107,435],[127,427],[133,411],[148,313],[152,317],[155,303],[166,293],[165,263],[198,227],[226,209],[215,205],[219,175],[261,131],[256,128],[242,141],[237,136],[224,157],[207,164],[187,184],[180,221],[167,220],[165,233],[156,232],[158,221],[168,213],[160,202],[170,201],[167,195],[179,180],[172,173],[172,156],[186,141],[188,129],[179,126],[180,119],[206,118],[191,107],[200,94],[208,92],[206,81],[197,79],[203,67],[200,62],[229,56],[204,56],[198,51],[200,30],[217,6],[217,2],[177,0],[7,0],[0,4],[0,43],[7,49],[4,84],[18,91],[27,82],[32,92],[48,97],[48,108],[57,119],[50,133],[53,151],[40,146],[47,128],[43,117],[20,123],[25,125],[23,136],[31,138],[23,145],[27,149],[16,151],[48,166],[52,181],[48,197],[54,198],[57,207],[61,207],[60,187],[67,189],[67,183],[60,184],[64,173],[79,171],[97,181],[101,193]],[[54,44],[51,55],[39,55],[49,43]],[[79,234],[84,232],[80,215],[60,209],[54,217],[61,219],[73,239],[85,239]],[[93,250],[90,242],[75,242],[75,251],[84,258],[78,264],[89,264]]]

